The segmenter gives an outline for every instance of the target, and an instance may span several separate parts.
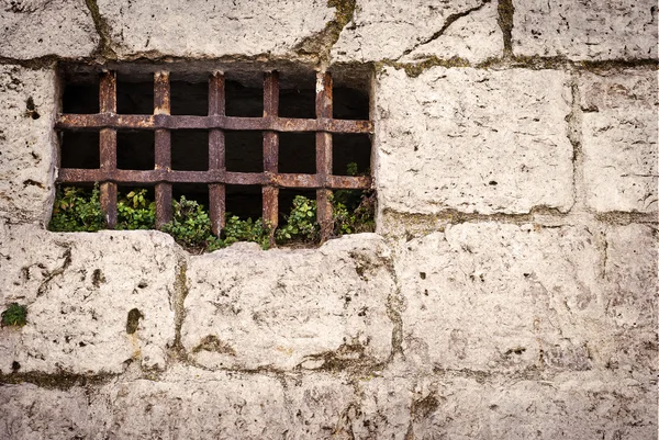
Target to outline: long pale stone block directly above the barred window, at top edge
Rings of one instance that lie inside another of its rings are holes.
[[[133,2],[99,0],[120,57],[290,55],[334,16],[325,1]]]

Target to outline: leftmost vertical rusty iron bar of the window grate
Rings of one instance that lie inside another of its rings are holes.
[[[116,113],[116,72],[105,71],[101,75],[99,87],[100,113]],[[101,170],[116,169],[116,129],[101,128],[99,133]],[[101,182],[101,210],[105,215],[108,228],[116,226],[116,183]]]

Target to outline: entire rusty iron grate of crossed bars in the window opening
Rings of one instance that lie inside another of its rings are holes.
[[[280,188],[315,189],[317,222],[322,239],[332,232],[332,190],[371,188],[370,177],[332,174],[332,134],[370,134],[370,121],[335,120],[332,117],[332,76],[316,76],[315,119],[279,117],[279,75],[264,75],[263,117],[237,117],[225,114],[225,80],[222,72],[209,77],[209,112],[206,116],[170,114],[169,72],[154,74],[154,114],[116,114],[116,72],[101,75],[99,87],[100,111],[94,114],[60,114],[59,131],[100,131],[100,168],[62,168],[58,183],[100,183],[101,207],[109,228],[116,225],[116,188],[123,184],[155,184],[156,227],[171,219],[172,184],[202,183],[209,185],[209,211],[213,233],[224,227],[225,185],[261,185],[263,217],[272,230],[278,224]],[[155,132],[155,168],[153,170],[123,170],[116,166],[116,131],[147,129]],[[171,169],[171,131],[198,128],[209,131],[209,169],[183,171]],[[224,133],[226,131],[263,132],[264,171],[232,172],[225,167]],[[279,132],[315,133],[316,172],[314,174],[280,173]]]

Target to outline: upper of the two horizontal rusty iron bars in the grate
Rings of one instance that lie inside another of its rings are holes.
[[[131,129],[254,129],[275,132],[372,133],[370,121],[300,120],[291,117],[235,117],[223,115],[179,116],[168,114],[60,114],[55,125],[59,129],[131,128]]]

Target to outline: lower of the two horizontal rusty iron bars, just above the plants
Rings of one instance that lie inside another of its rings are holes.
[[[328,176],[323,187],[320,174],[289,174],[272,172],[233,172],[223,170],[180,171],[180,170],[100,170],[63,168],[58,183],[115,182],[141,183],[224,183],[254,184],[278,188],[326,188],[333,190],[367,190],[371,188],[371,178],[366,176]]]

